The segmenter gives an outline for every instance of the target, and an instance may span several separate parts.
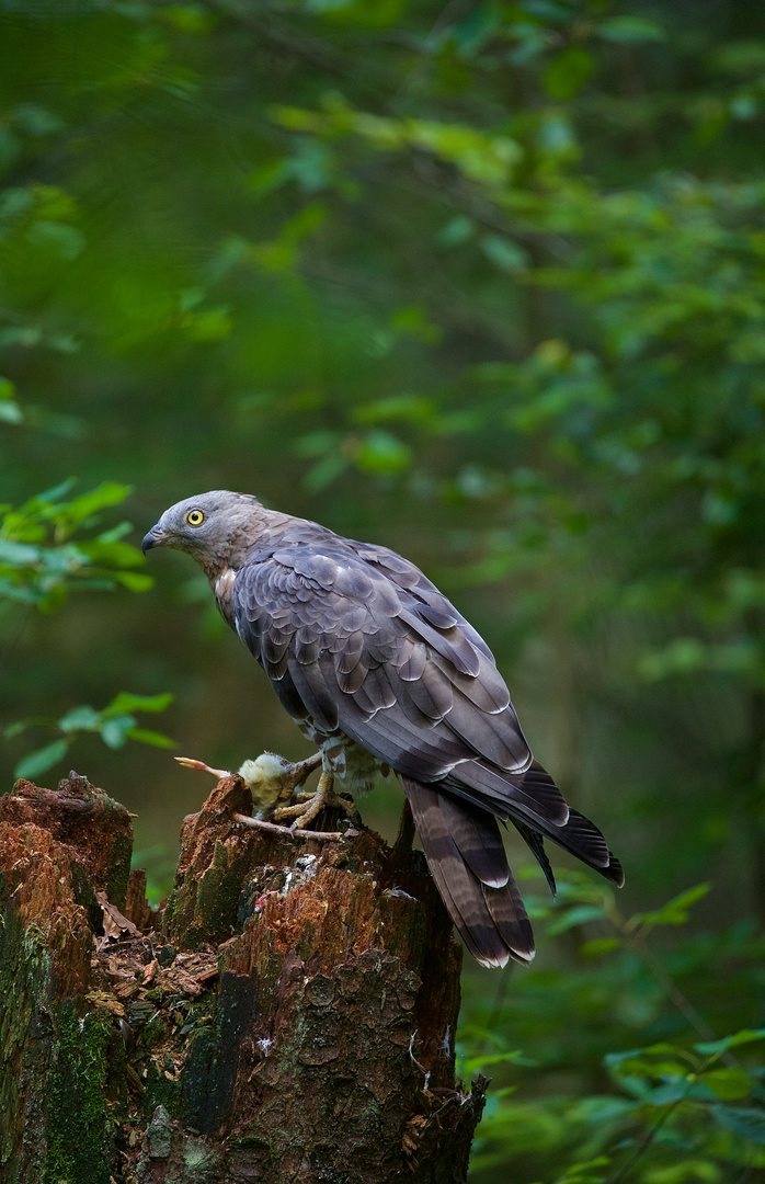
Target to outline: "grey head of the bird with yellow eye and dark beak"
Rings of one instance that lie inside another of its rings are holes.
[[[186,551],[211,573],[221,566],[238,566],[239,551],[255,541],[253,527],[262,511],[257,497],[213,489],[175,502],[165,510],[141,543],[143,554],[153,547]],[[243,558],[243,556],[242,556]]]

